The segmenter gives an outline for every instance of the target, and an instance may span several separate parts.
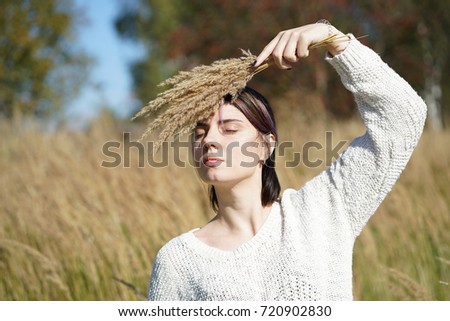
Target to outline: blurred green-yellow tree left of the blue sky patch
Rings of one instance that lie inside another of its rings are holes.
[[[0,114],[50,115],[77,94],[89,59],[73,46],[71,0],[2,0]]]

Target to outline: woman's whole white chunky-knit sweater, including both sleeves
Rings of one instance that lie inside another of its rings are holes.
[[[408,162],[426,106],[357,40],[326,60],[354,94],[366,134],[300,190],[284,191],[237,249],[210,247],[195,229],[169,241],[155,259],[149,300],[352,300],[355,238]]]

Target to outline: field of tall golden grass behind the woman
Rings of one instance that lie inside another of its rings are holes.
[[[298,117],[279,125],[296,146],[323,142],[325,131],[334,141],[364,131],[358,120]],[[82,132],[0,124],[0,300],[145,299],[157,250],[212,216],[192,168],[139,168],[136,158],[130,168],[101,166],[105,142],[130,130],[139,138],[142,128],[129,126],[107,117]],[[355,299],[450,300],[448,146],[449,131],[424,133],[358,238]],[[278,173],[283,188],[300,187],[323,168]]]

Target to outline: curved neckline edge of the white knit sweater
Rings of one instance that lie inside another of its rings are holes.
[[[279,201],[276,201],[272,204],[269,215],[267,216],[262,226],[259,228],[258,232],[256,232],[256,234],[250,240],[242,243],[233,250],[222,250],[213,246],[209,246],[208,244],[201,241],[194,235],[194,232],[200,229],[199,227],[184,233],[184,241],[189,247],[191,247],[191,249],[193,249],[197,253],[210,258],[236,258],[245,256],[249,253],[252,253],[254,249],[258,248],[268,239],[270,239],[271,233],[273,233],[273,231],[275,230],[274,226],[276,225],[276,222],[280,220],[279,214],[280,204]]]

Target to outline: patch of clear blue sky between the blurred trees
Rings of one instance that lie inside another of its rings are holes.
[[[118,38],[114,19],[120,10],[118,0],[75,0],[85,12],[86,26],[78,29],[78,46],[94,58],[90,81],[80,96],[69,106],[67,117],[83,123],[95,117],[102,106],[112,108],[118,116],[130,114],[136,102],[131,90],[130,61],[139,49]]]

